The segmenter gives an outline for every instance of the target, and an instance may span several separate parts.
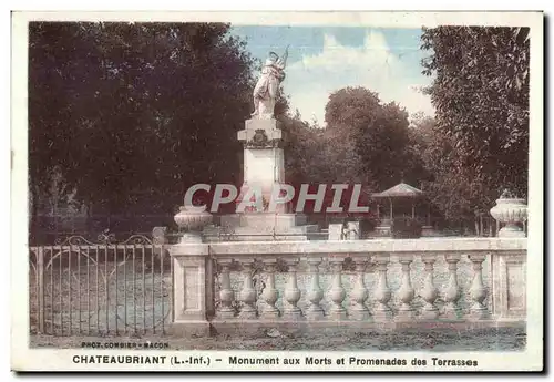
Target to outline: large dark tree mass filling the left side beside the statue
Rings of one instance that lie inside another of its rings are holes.
[[[34,22],[29,37],[33,196],[59,166],[96,211],[166,217],[189,185],[238,177],[254,60],[228,24]]]

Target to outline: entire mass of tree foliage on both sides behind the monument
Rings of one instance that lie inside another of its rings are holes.
[[[252,112],[259,62],[229,28],[30,24],[31,236],[48,229],[38,216],[52,204],[84,206],[98,227],[144,231],[171,225],[192,184],[242,183],[236,132]],[[526,197],[527,34],[423,30],[434,117],[347,87],[329,95],[321,128],[289,111],[285,94],[276,114],[287,182],[361,183],[368,200],[403,180],[424,188],[445,225],[472,226],[501,188]]]

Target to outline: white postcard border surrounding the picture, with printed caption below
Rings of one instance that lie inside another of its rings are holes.
[[[524,352],[464,352],[462,359],[471,357],[480,362],[479,370],[541,370],[543,364],[543,14],[541,12],[14,12],[12,16],[12,216],[11,216],[11,366],[13,370],[171,370],[167,368],[145,368],[145,365],[80,365],[71,361],[71,357],[80,353],[99,353],[94,350],[54,350],[29,349],[29,299],[28,299],[28,190],[27,190],[27,71],[28,71],[28,35],[27,23],[31,20],[65,20],[65,21],[225,21],[235,24],[290,24],[290,25],[368,25],[388,28],[419,28],[440,24],[472,24],[472,25],[510,25],[531,27],[531,94],[530,94],[530,187],[529,195],[529,238],[527,238],[527,345]],[[23,293],[24,291],[24,293]],[[103,354],[114,353],[103,351]],[[117,352],[120,355],[140,355],[144,352]],[[155,354],[147,352],[146,354]],[[166,352],[157,352],[163,354]],[[186,352],[167,352],[167,355]],[[254,354],[260,352],[199,352],[215,357],[220,353]],[[274,352],[263,352],[270,357]],[[286,357],[316,355],[318,352],[281,352]],[[349,357],[336,352],[326,352],[324,355]],[[456,353],[430,352],[363,352],[363,358],[393,358],[403,357],[441,357],[456,358]],[[202,371],[197,366],[194,369]],[[226,366],[217,370],[237,370]],[[253,366],[242,370],[254,370]],[[259,370],[268,370],[267,366]],[[294,370],[290,366],[280,366],[275,370]],[[301,366],[298,371],[312,370]],[[337,370],[337,369],[319,369]],[[368,370],[367,368],[349,371]],[[380,366],[379,371],[388,370]],[[399,369],[393,369],[399,370]],[[421,368],[407,366],[402,370],[422,371]],[[429,369],[428,369],[429,370]],[[448,369],[440,368],[440,370]],[[469,370],[469,369],[466,369]],[[475,370],[475,369],[472,369]],[[206,371],[214,371],[214,369]],[[376,371],[376,370],[372,370]],[[438,370],[439,371],[439,370]]]

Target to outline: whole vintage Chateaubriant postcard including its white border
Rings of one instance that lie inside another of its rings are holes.
[[[14,12],[14,371],[541,371],[541,12]]]

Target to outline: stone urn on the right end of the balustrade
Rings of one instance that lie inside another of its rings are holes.
[[[527,220],[527,205],[525,199],[517,198],[509,190],[504,190],[496,205],[491,208],[491,215],[496,221],[505,224],[499,230],[499,237],[525,237],[520,224]]]

